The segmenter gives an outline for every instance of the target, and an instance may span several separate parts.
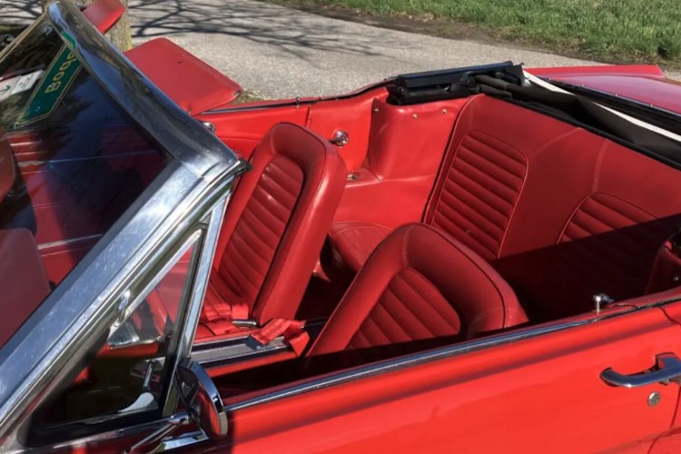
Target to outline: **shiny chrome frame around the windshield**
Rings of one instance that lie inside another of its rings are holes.
[[[150,272],[186,229],[216,206],[224,209],[234,177],[245,169],[114,49],[73,1],[58,0],[46,14],[84,68],[173,160],[0,350],[5,439],[95,345],[116,317],[117,297],[135,278]],[[200,300],[193,295],[192,303]]]

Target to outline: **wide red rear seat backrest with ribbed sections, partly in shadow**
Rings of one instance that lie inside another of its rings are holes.
[[[424,220],[493,262],[530,317],[546,321],[587,311],[595,293],[643,294],[679,222],[679,190],[664,163],[477,96],[455,125]]]

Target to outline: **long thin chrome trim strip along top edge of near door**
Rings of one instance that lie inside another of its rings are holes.
[[[644,309],[647,309],[647,306]],[[498,345],[506,344],[508,342],[522,341],[544,334],[550,334],[553,332],[565,331],[570,328],[585,326],[591,323],[595,323],[597,321],[607,320],[613,317],[617,317],[619,315],[624,315],[632,311],[637,311],[637,309],[633,309],[631,311],[621,311],[615,314],[608,314],[602,317],[598,317],[596,319],[586,321],[585,320],[569,321],[566,323],[559,323],[555,325],[527,328],[525,330],[489,336],[488,338],[480,339],[478,341],[469,341],[454,346],[446,346],[434,350],[420,351],[393,360],[382,360],[367,366],[360,366],[352,370],[345,370],[338,373],[333,373],[331,376],[327,376],[321,379],[309,380],[299,385],[292,386],[291,388],[288,389],[278,390],[275,392],[263,394],[262,396],[254,397],[252,399],[243,400],[241,402],[237,402],[227,406],[225,410],[227,410],[228,412],[244,410],[250,407],[254,407],[256,405],[271,402],[273,400],[285,399],[288,397],[304,394],[313,390],[322,390],[325,388],[330,388],[331,386],[348,383],[350,381],[374,377],[381,373],[386,373],[394,370],[402,370],[413,366],[419,366],[421,364],[426,364],[434,360],[443,360],[451,358],[453,356],[461,355],[463,353],[469,353],[470,351],[487,349],[489,347],[496,347]]]

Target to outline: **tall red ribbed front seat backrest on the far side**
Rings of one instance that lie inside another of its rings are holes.
[[[225,214],[214,270],[252,318],[291,319],[319,258],[347,170],[331,143],[279,123],[252,154]]]

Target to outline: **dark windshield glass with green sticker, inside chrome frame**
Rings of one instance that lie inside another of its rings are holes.
[[[0,59],[0,347],[169,158],[46,18]]]

